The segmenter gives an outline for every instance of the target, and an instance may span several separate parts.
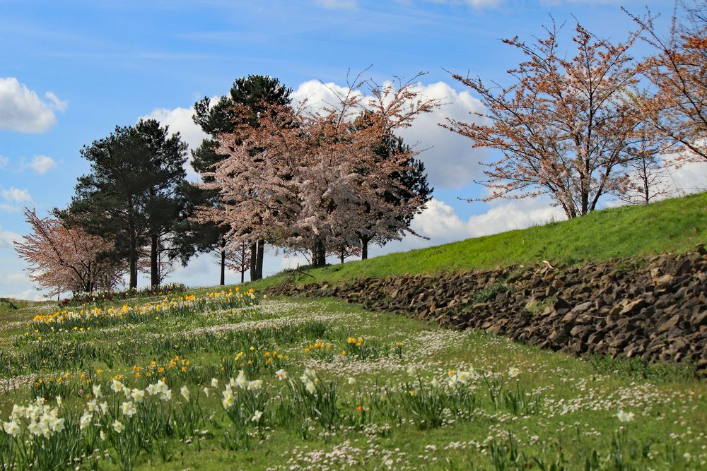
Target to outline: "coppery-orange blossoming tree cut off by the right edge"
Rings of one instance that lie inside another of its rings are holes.
[[[645,111],[655,131],[674,143],[678,165],[707,162],[707,15],[701,8],[684,8],[684,23],[673,16],[667,38],[655,30],[650,16],[631,15],[656,52],[641,64],[655,87]]]

